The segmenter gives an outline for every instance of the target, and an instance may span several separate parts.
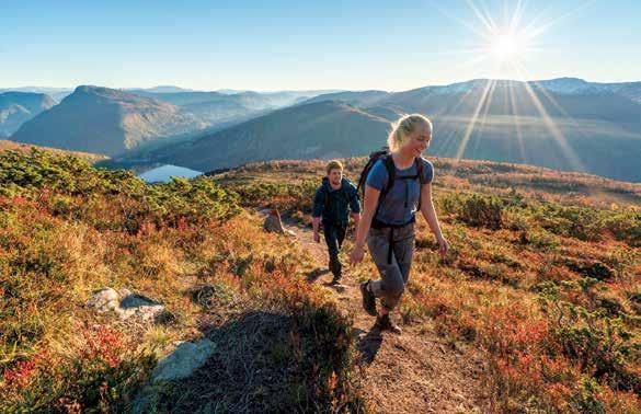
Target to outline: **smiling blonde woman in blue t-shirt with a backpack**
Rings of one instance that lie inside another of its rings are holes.
[[[414,253],[414,223],[420,210],[438,241],[438,253],[447,254],[448,244],[438,225],[432,203],[434,168],[421,157],[432,139],[432,123],[423,115],[401,117],[388,137],[390,152],[380,154],[366,174],[363,212],[352,264],[363,261],[365,241],[376,263],[379,280],[360,285],[363,308],[376,318],[375,327],[401,333],[390,319],[410,276]],[[380,300],[377,311],[376,298]]]

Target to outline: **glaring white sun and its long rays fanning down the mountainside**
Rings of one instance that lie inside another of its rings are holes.
[[[476,102],[476,99],[469,101],[468,94],[466,93],[455,105],[458,107],[463,102],[469,102],[473,106],[471,117],[466,120],[467,125],[461,124],[461,129],[458,129],[458,133],[455,135],[460,140],[455,139],[450,142],[450,137],[447,137],[446,142],[444,142],[444,147],[447,148],[450,147],[450,143],[457,146],[455,154],[456,162],[462,158],[466,151],[471,149],[468,147],[470,147],[472,134],[477,134],[474,137],[478,137],[473,143],[474,148],[482,145],[480,140],[483,138],[484,131],[488,130],[488,125],[493,125],[492,123],[494,122],[494,118],[490,116],[492,114],[492,103],[496,100],[494,94],[501,93],[505,100],[505,112],[511,115],[511,118],[505,117],[505,119],[511,119],[513,124],[513,129],[511,129],[510,134],[515,133],[516,135],[518,157],[523,162],[528,161],[528,156],[527,142],[524,140],[524,128],[526,128],[526,124],[524,124],[523,107],[519,106],[525,104],[529,106],[530,103],[528,101],[531,101],[535,117],[538,113],[540,125],[550,133],[553,141],[559,146],[561,157],[569,162],[572,169],[585,170],[580,158],[570,147],[560,125],[558,125],[558,122],[552,116],[557,113],[568,115],[566,111],[557,102],[553,94],[543,88],[539,88],[536,82],[529,80],[529,73],[525,70],[525,65],[523,65],[523,69],[520,66],[522,60],[524,64],[529,61],[529,54],[549,49],[550,45],[540,43],[539,36],[542,33],[552,25],[564,21],[577,11],[594,3],[594,1],[596,0],[585,1],[580,7],[569,10],[566,13],[559,13],[553,16],[550,15],[551,7],[548,7],[541,12],[536,13],[533,19],[533,13],[526,13],[527,0],[516,0],[512,3],[504,0],[502,4],[499,4],[497,13],[494,14],[491,13],[493,10],[483,0],[466,0],[467,5],[477,19],[476,25],[471,25],[469,22],[461,22],[460,19],[451,16],[442,8],[436,7],[442,14],[476,33],[481,42],[480,47],[456,50],[459,56],[461,54],[471,55],[470,59],[460,59],[463,62],[458,66],[467,67],[468,65],[484,64],[487,59],[492,59],[496,64],[494,68],[485,66],[488,70],[493,70],[493,72],[490,76],[491,79],[488,79],[483,84],[482,92],[479,92],[479,89],[473,87],[470,88],[470,90],[474,90],[474,97],[479,99],[479,101]],[[526,15],[527,21],[525,19]],[[503,78],[508,81],[506,83],[497,83],[496,79],[492,78]],[[510,81],[510,79],[518,79],[520,81]],[[523,91],[520,90],[522,88]],[[525,96],[525,101],[520,97],[522,95]],[[551,108],[553,110],[550,111]],[[470,107],[470,110],[472,108]],[[568,118],[572,119],[572,117]],[[572,122],[574,120],[572,119]],[[463,126],[465,129],[462,129]],[[456,173],[456,166],[454,173]]]

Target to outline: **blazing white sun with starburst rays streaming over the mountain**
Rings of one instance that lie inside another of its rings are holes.
[[[503,2],[502,10],[492,8]],[[542,43],[541,35],[554,24],[574,14],[579,8],[570,9],[565,13],[546,15],[546,11],[536,11],[531,8],[526,11],[527,0],[466,0],[476,19],[461,20],[457,16],[449,16],[476,35],[472,47],[462,50],[470,58],[463,66],[473,66],[485,82],[480,89],[474,90],[479,101],[473,106],[468,125],[458,145],[455,158],[460,160],[466,151],[470,139],[479,135],[479,126],[485,124],[494,93],[508,93],[511,112],[514,114],[516,127],[515,139],[519,140],[520,153],[524,162],[525,147],[522,141],[518,125],[519,105],[528,105],[537,112],[540,122],[547,127],[548,133],[558,143],[558,149],[563,157],[579,171],[583,170],[581,159],[569,146],[562,129],[550,116],[546,105],[549,103],[554,107],[561,107],[554,97],[545,89],[537,88],[531,80],[528,67],[537,61],[537,55],[541,50],[550,48],[549,44]],[[533,87],[534,85],[534,87]],[[517,94],[525,96],[517,99]],[[542,96],[545,97],[542,97]],[[468,94],[463,95],[468,96]]]

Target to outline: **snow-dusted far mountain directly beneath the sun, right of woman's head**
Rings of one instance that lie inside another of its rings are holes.
[[[527,163],[640,182],[640,93],[641,82],[481,79],[397,93],[343,92],[313,101],[337,100],[364,112],[374,107],[370,113],[390,120],[394,113],[426,114],[435,126],[432,151],[439,157]]]

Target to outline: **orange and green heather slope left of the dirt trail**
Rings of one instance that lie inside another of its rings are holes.
[[[176,342],[208,336],[222,348],[251,314],[278,335],[225,364],[268,357],[265,372],[297,387],[260,406],[362,405],[348,319],[307,284],[306,253],[264,233],[236,193],[205,177],[147,185],[38,150],[0,157],[0,189],[1,412],[128,411]],[[165,309],[150,322],[98,313],[87,302],[105,286]],[[228,407],[259,404],[222,391]],[[182,393],[164,383],[154,404],[185,409]]]

